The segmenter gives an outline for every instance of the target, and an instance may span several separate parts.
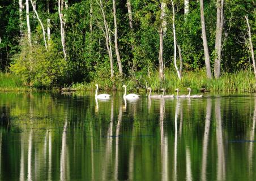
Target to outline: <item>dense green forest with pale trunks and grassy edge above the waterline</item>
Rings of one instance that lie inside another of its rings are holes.
[[[256,90],[254,0],[0,0],[0,15],[0,87]]]

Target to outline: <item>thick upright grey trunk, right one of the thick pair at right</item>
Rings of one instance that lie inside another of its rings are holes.
[[[216,37],[215,37],[215,52],[216,58],[214,61],[214,76],[215,79],[220,77],[220,61],[221,61],[221,40],[223,30],[223,6],[224,0],[217,0],[217,20],[216,20]]]

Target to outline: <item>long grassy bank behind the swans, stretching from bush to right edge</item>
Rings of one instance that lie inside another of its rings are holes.
[[[126,77],[125,79],[118,79],[110,81],[109,79],[96,79],[91,83],[79,83],[72,85],[72,88],[76,90],[94,90],[95,84],[99,84],[101,89],[110,90],[117,89],[122,90],[122,84],[126,84],[128,89],[144,90],[146,87],[151,87],[153,91],[159,91],[161,88],[165,88],[169,91],[174,91],[176,88],[186,89],[191,87],[194,91],[200,91],[201,89],[207,89],[210,92],[255,92],[256,80],[253,72],[239,71],[235,73],[227,73],[221,75],[220,79],[208,79],[206,72],[190,71],[184,72],[182,80],[178,80],[177,74],[171,71],[165,71],[165,80],[161,82],[159,80],[159,74],[157,71],[148,75],[136,75],[135,79]],[[138,86],[140,85],[140,86]],[[143,88],[144,87],[144,88]]]

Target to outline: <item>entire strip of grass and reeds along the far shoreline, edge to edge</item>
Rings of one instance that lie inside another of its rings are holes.
[[[123,77],[122,79],[110,80],[100,77],[90,83],[72,83],[65,87],[52,89],[39,89],[25,86],[18,76],[10,73],[0,73],[0,91],[95,91],[95,84],[99,84],[101,90],[122,91],[122,85],[126,84],[128,90],[145,91],[151,87],[152,91],[160,91],[165,88],[167,91],[174,91],[176,88],[185,90],[191,87],[196,92],[256,92],[256,80],[252,71],[244,70],[235,73],[225,73],[220,79],[208,79],[204,70],[184,72],[180,81],[173,71],[165,71],[165,80],[159,80],[159,72],[152,72],[148,75],[136,77]]]

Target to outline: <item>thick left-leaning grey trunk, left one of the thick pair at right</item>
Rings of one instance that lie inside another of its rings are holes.
[[[207,44],[206,25],[205,25],[205,22],[204,22],[204,12],[203,11],[204,11],[203,0],[200,0],[200,18],[201,18],[201,26],[202,26],[204,61],[206,63],[207,77],[209,79],[211,79],[212,78],[212,73],[211,73],[210,55],[209,55],[208,44]]]

